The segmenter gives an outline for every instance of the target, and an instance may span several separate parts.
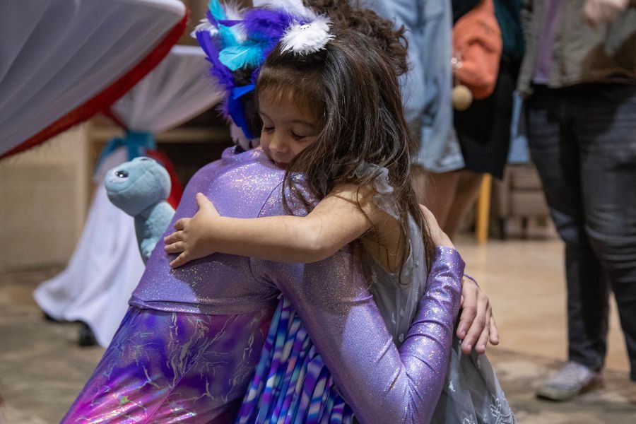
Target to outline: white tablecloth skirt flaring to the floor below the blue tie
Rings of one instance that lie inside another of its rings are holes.
[[[126,149],[119,148],[105,160],[103,172],[126,159]],[[104,184],[98,184],[69,266],[40,284],[33,297],[55,319],[86,322],[98,343],[108,346],[143,269],[133,218],[111,204]]]

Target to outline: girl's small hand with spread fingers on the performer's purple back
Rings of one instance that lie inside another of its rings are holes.
[[[196,194],[196,203],[199,204],[199,211],[192,218],[177,220],[177,231],[163,239],[165,252],[179,254],[170,262],[172,268],[216,252],[214,233],[219,214],[212,202],[201,193]]]

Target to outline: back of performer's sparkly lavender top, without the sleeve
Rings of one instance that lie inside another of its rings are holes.
[[[197,192],[213,201],[221,215],[257,217],[268,199],[278,201],[277,214],[283,215],[280,196],[271,196],[277,188],[280,191],[283,174],[260,150],[235,154],[228,148],[220,160],[190,179],[165,235],[172,232],[177,219],[194,216]],[[205,314],[242,314],[276,305],[278,293],[254,278],[247,257],[214,254],[177,269],[170,268],[170,257],[174,255],[165,254],[158,243],[131,305]]]

